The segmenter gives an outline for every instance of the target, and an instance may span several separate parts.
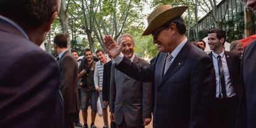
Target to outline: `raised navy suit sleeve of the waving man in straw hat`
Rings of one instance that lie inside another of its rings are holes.
[[[140,66],[139,64],[130,62],[130,59],[124,56],[122,61],[116,65],[116,69],[138,81],[153,82],[155,79],[155,62],[149,66]]]

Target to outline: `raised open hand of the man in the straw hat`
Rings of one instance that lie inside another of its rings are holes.
[[[121,53],[122,45],[117,45],[116,41],[109,35],[104,36],[104,45],[108,49],[108,54],[111,58],[116,58]]]

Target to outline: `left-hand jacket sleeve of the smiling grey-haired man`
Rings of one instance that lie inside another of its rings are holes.
[[[114,64],[111,65],[110,89],[109,89],[109,111],[114,113],[114,100],[116,99],[116,81],[114,78]]]

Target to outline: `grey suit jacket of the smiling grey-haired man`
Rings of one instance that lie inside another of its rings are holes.
[[[136,56],[133,62],[148,65]],[[143,118],[151,118],[151,88],[151,83],[134,80],[111,67],[109,111],[114,113],[116,124],[125,119],[127,126],[142,126]]]

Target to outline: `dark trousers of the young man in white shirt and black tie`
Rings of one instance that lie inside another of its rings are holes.
[[[234,128],[236,126],[238,103],[239,99],[237,96],[215,99],[213,110],[215,127]]]

